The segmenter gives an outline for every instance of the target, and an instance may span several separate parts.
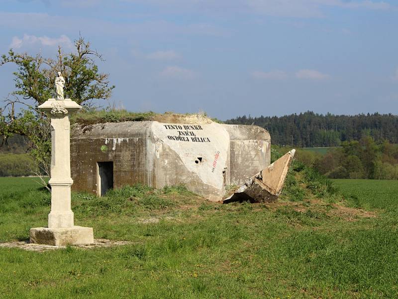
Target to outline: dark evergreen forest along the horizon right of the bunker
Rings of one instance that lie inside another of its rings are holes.
[[[376,143],[387,140],[398,143],[398,115],[358,114],[333,115],[316,114],[307,111],[281,117],[239,116],[225,121],[226,124],[256,125],[267,129],[271,142],[279,146],[299,148],[337,147],[344,141],[359,141],[370,136]]]

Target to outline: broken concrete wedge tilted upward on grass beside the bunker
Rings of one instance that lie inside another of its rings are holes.
[[[275,201],[281,191],[288,174],[296,150],[292,149],[287,154],[276,160],[268,167],[248,179],[231,196],[223,200],[224,203],[232,201],[271,202]]]

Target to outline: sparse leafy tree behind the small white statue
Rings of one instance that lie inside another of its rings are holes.
[[[95,108],[93,101],[110,98],[114,85],[109,75],[101,73],[96,60],[102,56],[80,36],[75,50],[64,53],[58,47],[56,58],[43,57],[40,53],[29,55],[12,49],[1,56],[0,67],[14,64],[15,91],[8,95],[0,107],[0,145],[5,145],[14,134],[25,136],[30,142],[29,153],[42,170],[48,174],[51,155],[51,130],[49,117],[37,107],[55,97],[55,78],[61,72],[65,79],[66,98],[82,105],[86,110]],[[18,110],[16,107],[22,109]],[[18,110],[18,112],[16,112]]]

